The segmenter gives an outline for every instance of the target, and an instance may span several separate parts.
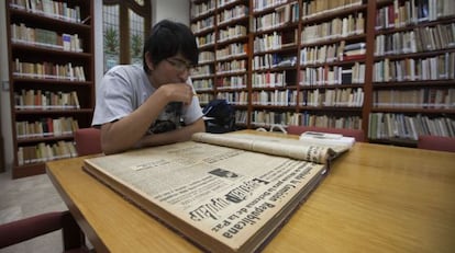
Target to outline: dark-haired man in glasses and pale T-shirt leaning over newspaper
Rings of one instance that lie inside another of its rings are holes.
[[[186,141],[206,131],[189,78],[198,55],[190,28],[163,20],[144,44],[143,67],[120,65],[104,74],[92,126],[101,129],[106,154]]]

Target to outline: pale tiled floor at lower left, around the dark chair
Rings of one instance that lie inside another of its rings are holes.
[[[12,180],[11,172],[0,173],[0,223],[46,211],[66,209],[65,203],[46,174]],[[1,253],[62,251],[60,231],[0,249]]]

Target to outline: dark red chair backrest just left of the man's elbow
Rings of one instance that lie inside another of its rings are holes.
[[[80,128],[75,133],[78,156],[101,153],[101,130],[98,128]]]

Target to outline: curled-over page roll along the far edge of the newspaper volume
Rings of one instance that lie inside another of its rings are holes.
[[[192,140],[318,163],[326,163],[337,152],[344,151],[341,147],[334,150],[328,145],[254,134],[197,133]]]

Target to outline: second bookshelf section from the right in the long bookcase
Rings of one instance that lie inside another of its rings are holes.
[[[367,7],[364,1],[302,1],[300,118],[293,125],[364,127]]]

